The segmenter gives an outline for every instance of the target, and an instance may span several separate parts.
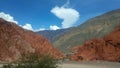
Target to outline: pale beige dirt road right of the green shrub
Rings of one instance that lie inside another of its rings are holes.
[[[115,62],[67,62],[61,68],[120,68],[120,63]]]

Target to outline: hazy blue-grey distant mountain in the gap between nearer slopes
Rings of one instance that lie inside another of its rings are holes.
[[[72,28],[67,29],[58,29],[58,30],[44,30],[44,31],[38,31],[37,34],[40,34],[47,38],[50,42],[54,42],[57,40],[60,36],[62,36],[64,33],[68,32]]]

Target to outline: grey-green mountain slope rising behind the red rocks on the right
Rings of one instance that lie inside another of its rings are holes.
[[[81,45],[92,38],[101,38],[120,25],[120,9],[92,18],[82,25],[63,34],[54,45],[67,53],[74,46]]]

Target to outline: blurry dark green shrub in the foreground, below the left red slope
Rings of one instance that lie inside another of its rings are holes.
[[[57,68],[58,60],[50,56],[32,54],[21,61],[3,65],[3,68]]]

